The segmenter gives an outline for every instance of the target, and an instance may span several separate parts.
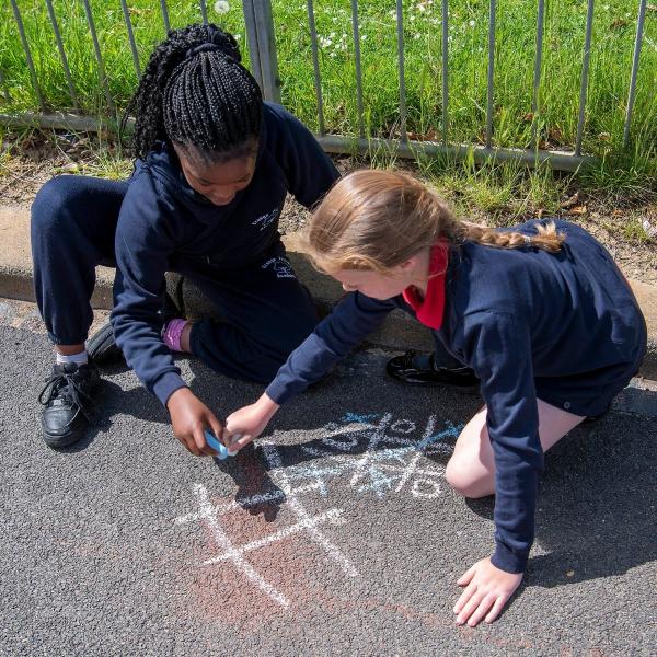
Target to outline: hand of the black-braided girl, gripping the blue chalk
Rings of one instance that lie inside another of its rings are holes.
[[[221,440],[223,427],[215,414],[188,389],[180,388],[166,402],[173,434],[185,449],[196,457],[215,457],[217,452],[206,442],[203,431],[211,429]]]

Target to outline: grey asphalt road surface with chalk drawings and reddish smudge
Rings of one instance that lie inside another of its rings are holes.
[[[396,384],[361,351],[218,462],[115,366],[88,439],[54,451],[36,403],[49,346],[14,314],[0,303],[0,655],[657,654],[655,387],[549,452],[519,592],[458,627],[493,500],[443,472],[479,397]],[[178,362],[220,416],[261,392]]]

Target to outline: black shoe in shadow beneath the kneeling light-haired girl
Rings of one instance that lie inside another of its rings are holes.
[[[433,356],[427,358],[417,351],[391,358],[385,371],[393,379],[411,385],[446,385],[458,392],[479,392],[479,379],[469,367],[436,367]]]

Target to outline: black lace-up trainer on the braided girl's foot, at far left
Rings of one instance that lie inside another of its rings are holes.
[[[96,366],[67,362],[55,365],[53,374],[38,395],[44,441],[48,447],[66,447],[84,436],[91,423],[91,402],[101,378]]]

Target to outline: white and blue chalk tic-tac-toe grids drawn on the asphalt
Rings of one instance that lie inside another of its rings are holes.
[[[346,413],[339,423],[330,423],[324,427],[323,437],[318,441],[322,445],[321,448],[304,445],[297,447],[311,459],[321,459],[321,463],[288,466],[284,466],[276,445],[261,440],[258,448],[263,450],[267,461],[267,473],[277,489],[214,505],[206,487],[195,484],[193,492],[198,510],[176,518],[175,522],[207,523],[217,544],[218,554],[204,562],[204,565],[231,564],[272,600],[287,608],[290,606],[289,599],[249,563],[250,552],[303,532],[347,577],[358,576],[349,557],[320,529],[323,525],[344,523],[343,509],[334,507],[322,514],[311,515],[301,500],[302,496],[314,494],[327,497],[332,485],[338,482],[344,485],[348,480],[351,489],[361,494],[371,492],[378,497],[402,493],[416,498],[437,497],[440,494],[445,466],[427,459],[422,460],[422,457],[451,453],[460,429],[460,426],[448,422],[442,430],[436,431],[436,417],[431,415],[422,431],[422,437],[417,439],[417,425],[410,419],[393,420],[391,413]],[[358,454],[354,454],[354,451]],[[221,517],[239,508],[276,500],[285,500],[297,521],[255,541],[242,545],[233,544],[223,529]]]

